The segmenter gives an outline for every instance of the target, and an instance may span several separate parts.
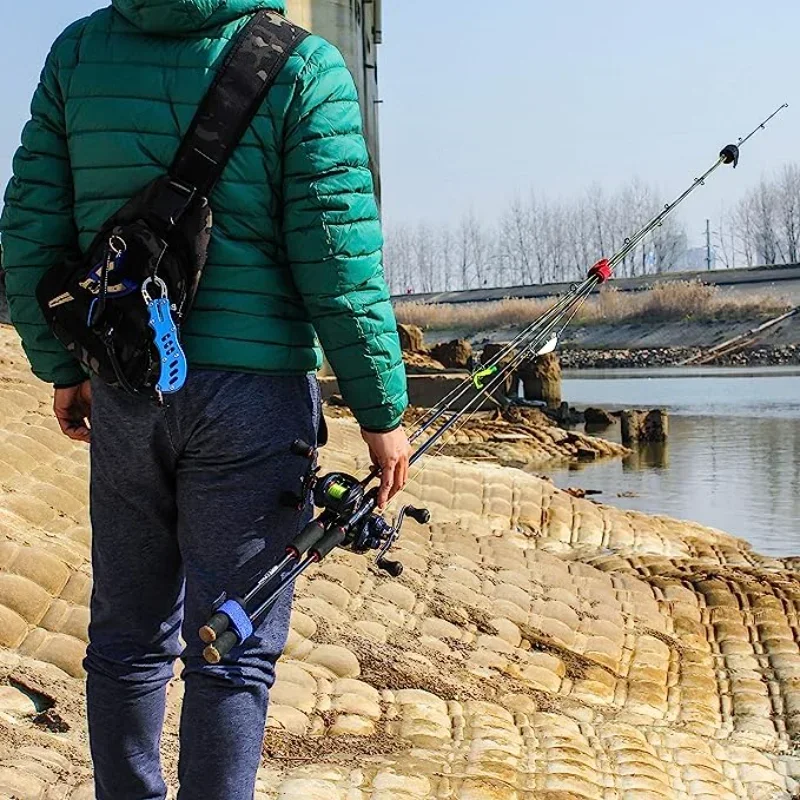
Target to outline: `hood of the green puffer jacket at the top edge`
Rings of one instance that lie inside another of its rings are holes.
[[[286,12],[284,0],[112,0],[112,5],[140,30],[166,35],[223,25],[262,8]]]

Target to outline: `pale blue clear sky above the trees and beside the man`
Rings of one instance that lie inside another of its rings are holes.
[[[3,3],[10,0],[3,0]],[[52,40],[96,0],[14,3],[0,32],[0,183]],[[492,11],[494,9],[494,11]],[[493,222],[516,194],[639,178],[678,195],[720,148],[790,108],[682,210],[692,244],[800,134],[797,0],[384,0],[387,224]]]

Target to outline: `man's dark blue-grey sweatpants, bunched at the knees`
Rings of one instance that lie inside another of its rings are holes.
[[[197,631],[283,555],[308,517],[281,504],[316,441],[313,376],[195,371],[157,407],[92,384],[94,588],[85,666],[97,800],[162,800],[166,684],[182,655],[180,800],[252,800],[291,598],[226,662]],[[179,640],[183,635],[185,650]]]

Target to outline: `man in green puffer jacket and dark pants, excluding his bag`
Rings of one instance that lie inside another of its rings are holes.
[[[261,8],[282,13],[283,0],[113,0],[70,26],[47,58],[6,193],[12,321],[55,387],[61,429],[91,441],[85,666],[98,800],[166,796],[159,741],[179,655],[179,797],[253,797],[290,601],[235,662],[206,664],[197,629],[219,592],[268,569],[308,518],[280,498],[307,468],[291,442],[313,441],[320,422],[317,337],[382,468],[381,504],[407,478],[405,372],[360,110],[320,38],[289,58],[211,198],[179,393],[159,407],[90,383],[36,303],[42,275],[166,172],[231,38]]]

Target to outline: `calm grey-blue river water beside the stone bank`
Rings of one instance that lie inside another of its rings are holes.
[[[595,499],[602,503],[720,528],[761,553],[800,555],[800,370],[564,376],[564,399],[579,408],[668,409],[669,442],[640,447],[622,462],[550,470],[558,486],[601,490]],[[619,422],[599,435],[619,441]]]

